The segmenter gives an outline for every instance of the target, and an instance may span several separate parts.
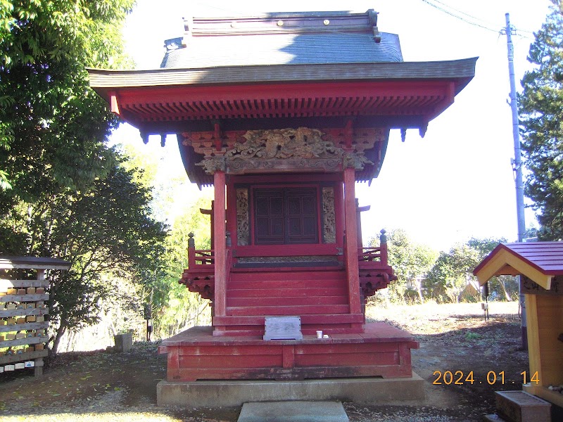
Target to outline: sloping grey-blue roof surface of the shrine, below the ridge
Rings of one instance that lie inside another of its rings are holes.
[[[399,37],[369,32],[254,34],[190,37],[186,47],[168,51],[161,68],[393,63],[403,61]]]

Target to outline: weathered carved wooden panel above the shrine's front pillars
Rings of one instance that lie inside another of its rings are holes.
[[[225,132],[227,147],[217,151],[215,134],[208,132],[185,132],[184,145],[194,148],[205,158],[198,162],[206,173],[217,170],[231,174],[246,172],[292,172],[327,171],[338,172],[344,167],[363,170],[373,164],[364,155],[366,149],[386,139],[387,129],[359,129],[350,141],[350,130],[298,127],[297,129],[249,130]],[[346,142],[348,139],[348,143]],[[351,143],[350,143],[351,142]],[[228,149],[229,146],[232,148]],[[345,152],[346,149],[346,152]]]

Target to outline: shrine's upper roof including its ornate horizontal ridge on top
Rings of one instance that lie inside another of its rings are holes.
[[[396,34],[377,30],[377,13],[268,13],[191,18],[165,41],[161,68],[400,62]]]

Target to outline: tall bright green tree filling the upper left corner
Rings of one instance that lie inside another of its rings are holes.
[[[133,0],[0,1],[0,205],[87,189],[113,168],[118,119],[86,67],[128,63],[121,28]],[[11,184],[13,192],[6,194]]]

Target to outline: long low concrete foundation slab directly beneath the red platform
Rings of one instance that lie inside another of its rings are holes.
[[[158,406],[236,407],[246,402],[324,401],[377,404],[424,399],[424,380],[410,378],[333,378],[305,381],[160,381]]]

